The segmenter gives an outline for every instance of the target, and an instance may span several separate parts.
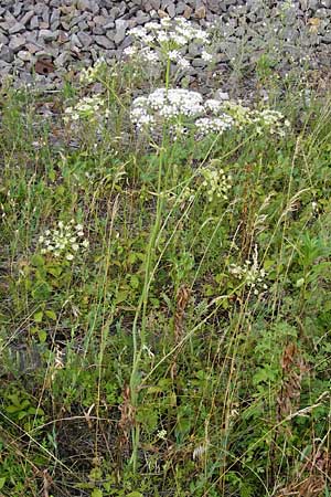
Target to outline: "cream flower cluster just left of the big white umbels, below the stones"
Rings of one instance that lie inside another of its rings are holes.
[[[64,110],[64,121],[90,120],[100,121],[109,117],[109,109],[106,108],[105,101],[99,95],[83,97],[74,107],[66,107]]]

